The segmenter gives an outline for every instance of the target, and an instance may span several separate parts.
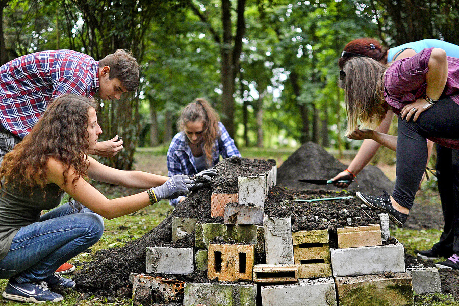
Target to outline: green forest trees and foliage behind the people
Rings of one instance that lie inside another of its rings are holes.
[[[124,141],[104,162],[121,169],[133,168],[137,147],[167,150],[180,110],[197,97],[238,146],[354,149],[337,86],[346,43],[459,44],[455,0],[0,0],[0,14],[0,64],[49,49],[96,60],[132,51],[139,90],[100,101],[101,139]]]

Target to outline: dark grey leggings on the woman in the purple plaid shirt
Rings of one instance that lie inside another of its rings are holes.
[[[421,113],[418,120],[398,117],[397,170],[392,197],[401,206],[413,206],[427,163],[427,137],[459,139],[459,105],[442,97]]]

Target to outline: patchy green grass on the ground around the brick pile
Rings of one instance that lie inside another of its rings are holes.
[[[259,149],[259,148],[242,148],[241,154],[247,158],[275,159],[277,166],[280,166],[296,149]],[[167,147],[141,148],[136,153],[136,168],[138,170],[149,171],[157,174],[167,175],[165,154]],[[348,161],[343,161],[348,163]],[[380,167],[385,174],[391,179],[394,175],[394,166],[382,165]],[[113,186],[97,185],[97,188],[107,197],[119,197],[126,195],[122,189]],[[133,191],[135,192],[135,191]],[[439,201],[438,194],[430,187],[423,188],[418,194],[417,201],[429,202]],[[81,269],[85,262],[95,259],[94,254],[97,250],[108,249],[111,247],[120,247],[137,238],[142,237],[151,228],[158,225],[171,212],[171,206],[168,201],[161,201],[155,206],[146,207],[134,214],[119,217],[113,220],[105,220],[105,233],[103,237],[93,247],[91,252],[82,253],[70,260],[70,263],[77,265],[77,271]],[[428,249],[433,243],[437,242],[441,231],[438,230],[407,230],[397,228],[391,230],[391,235],[403,243],[407,253],[415,254],[416,249]],[[70,277],[71,276],[67,276]],[[0,291],[5,289],[7,281],[0,281]],[[99,306],[106,305],[106,299],[90,297],[81,299],[77,292],[68,290],[65,299],[59,303],[60,306]],[[8,306],[24,305],[13,301],[0,299],[0,303]],[[44,305],[56,305],[56,303],[45,303]],[[32,303],[30,303],[32,305]],[[111,305],[132,305],[130,299],[116,299]],[[451,306],[459,305],[459,302],[451,300],[447,295],[422,295],[416,298],[415,306]]]

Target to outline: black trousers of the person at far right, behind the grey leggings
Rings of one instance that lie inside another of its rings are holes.
[[[459,254],[459,150],[437,145],[436,168],[445,226],[432,249],[450,257]]]

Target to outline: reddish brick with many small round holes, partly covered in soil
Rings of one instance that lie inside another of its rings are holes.
[[[165,301],[179,302],[183,298],[183,287],[185,283],[174,279],[151,277],[138,274],[134,276],[132,282],[133,299],[136,295],[136,289],[139,285],[142,285],[144,288],[148,287],[151,289],[151,291],[153,291],[155,288],[158,288],[159,291],[164,295]]]

